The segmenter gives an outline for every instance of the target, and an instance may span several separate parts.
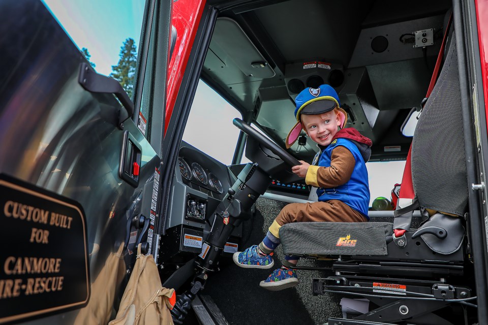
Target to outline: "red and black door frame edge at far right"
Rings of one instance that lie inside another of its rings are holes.
[[[469,108],[463,111],[466,169],[469,195],[468,233],[470,255],[473,260],[477,304],[486,306],[488,300],[487,261],[487,232],[488,232],[488,191],[486,189],[486,173],[488,173],[488,24],[486,10],[488,2],[453,2],[454,26],[458,45],[457,53],[460,62],[461,103]],[[465,13],[462,15],[461,12]],[[457,44],[456,44],[457,45]],[[467,62],[468,69],[462,69],[462,63]],[[473,127],[474,126],[474,127]],[[478,308],[478,320],[486,322],[488,311]]]

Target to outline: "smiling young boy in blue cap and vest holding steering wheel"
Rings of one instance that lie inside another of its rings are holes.
[[[318,202],[285,206],[259,245],[234,253],[235,264],[242,268],[269,269],[275,264],[272,253],[280,244],[279,231],[286,223],[369,220],[370,190],[365,162],[371,155],[371,140],[352,127],[343,128],[347,114],[340,108],[337,92],[329,85],[302,90],[295,103],[297,123],[286,138],[287,148],[303,129],[320,151],[312,165],[300,160],[301,165],[291,170],[305,177],[307,184],[318,187]],[[259,285],[273,291],[297,285],[298,278],[293,269],[297,261],[298,256],[285,256],[283,266]]]

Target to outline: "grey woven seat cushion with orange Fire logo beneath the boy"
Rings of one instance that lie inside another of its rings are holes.
[[[295,222],[280,228],[285,254],[387,255],[390,222]]]

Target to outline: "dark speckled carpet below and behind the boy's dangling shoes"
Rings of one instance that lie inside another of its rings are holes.
[[[254,219],[245,222],[244,238],[249,237],[239,250],[258,244],[269,225],[285,206],[283,202],[258,199]],[[252,232],[249,234],[249,229]],[[249,234],[249,236],[247,236]],[[283,251],[275,252],[275,265],[281,266]],[[299,266],[325,265],[328,262],[302,259]],[[321,271],[297,271],[300,283],[282,291],[267,291],[259,287],[273,269],[243,269],[232,261],[221,262],[221,272],[209,277],[202,294],[209,295],[232,325],[322,325],[328,317],[342,316],[341,297],[312,296],[312,278],[327,277]]]

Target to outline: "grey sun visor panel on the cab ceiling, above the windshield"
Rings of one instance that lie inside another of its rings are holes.
[[[231,63],[229,61],[235,63],[246,76],[260,79],[275,76],[275,71],[269,66],[268,61],[233,19],[217,18],[210,50],[219,61],[227,65]]]

